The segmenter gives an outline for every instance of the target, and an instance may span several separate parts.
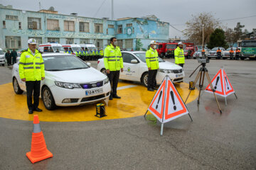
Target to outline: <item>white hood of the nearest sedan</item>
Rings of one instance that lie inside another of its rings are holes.
[[[66,83],[89,83],[95,81],[102,81],[107,78],[97,69],[92,67],[88,69],[73,69],[60,72],[46,71],[46,78],[54,79]]]

